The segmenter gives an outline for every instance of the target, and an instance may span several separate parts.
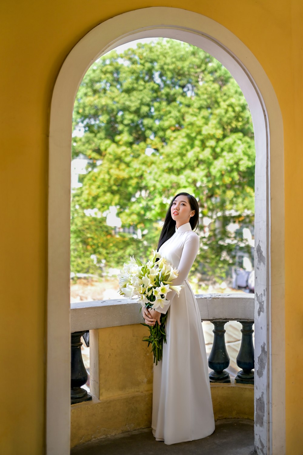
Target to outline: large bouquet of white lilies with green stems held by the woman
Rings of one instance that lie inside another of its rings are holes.
[[[181,286],[173,286],[172,281],[177,278],[179,270],[172,267],[157,250],[153,251],[153,257],[147,264],[142,264],[134,256],[128,263],[124,263],[123,271],[119,277],[119,293],[125,297],[139,298],[138,302],[147,308],[164,308],[164,303],[168,303],[166,296],[171,290],[178,295]],[[140,310],[141,310],[140,308]],[[161,315],[161,325],[157,322],[154,326],[149,326],[150,335],[144,341],[152,345],[154,362],[157,364],[162,360],[163,343],[166,343],[164,324],[167,314]]]

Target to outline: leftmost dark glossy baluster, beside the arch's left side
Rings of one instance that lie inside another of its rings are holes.
[[[86,334],[83,332],[73,332],[71,334],[71,404],[81,403],[82,401],[89,401],[92,399],[91,395],[87,393],[81,386],[87,382],[87,371],[83,364],[80,338]]]

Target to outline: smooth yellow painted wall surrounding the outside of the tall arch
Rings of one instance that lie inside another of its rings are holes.
[[[253,52],[277,94],[285,140],[287,453],[303,448],[303,2],[301,0],[18,0],[1,2],[0,452],[43,453],[47,135],[51,93],[68,52],[100,22],[174,6],[226,26]]]

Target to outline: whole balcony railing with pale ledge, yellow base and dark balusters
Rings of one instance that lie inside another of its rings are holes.
[[[214,324],[209,355],[211,395],[215,419],[253,420],[252,324],[254,295],[197,295],[201,321]],[[242,324],[242,339],[235,380],[226,368],[227,321]],[[141,340],[147,328],[134,300],[94,301],[71,304],[71,447],[108,435],[150,427],[153,359]],[[80,337],[89,330],[90,395],[81,386],[87,373],[81,357]],[[92,398],[91,398],[92,397]]]

